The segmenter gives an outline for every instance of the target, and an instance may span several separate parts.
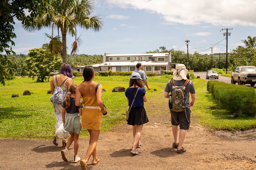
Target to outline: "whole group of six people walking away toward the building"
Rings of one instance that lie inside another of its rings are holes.
[[[178,64],[179,65],[179,64]],[[175,82],[182,83],[186,80],[188,73],[184,64],[177,66],[179,70],[174,71],[173,79]],[[147,102],[146,90],[150,90],[147,83],[147,75],[142,70],[141,63],[136,65],[137,70],[132,72],[129,81],[129,88],[126,89],[125,96],[129,105],[129,117],[127,124],[132,125],[132,134],[134,142],[131,154],[138,155],[137,148],[140,148],[140,134],[143,124],[148,122],[147,113],[144,108],[144,102]],[[57,120],[55,124],[55,135],[53,136],[53,144],[58,145],[58,138],[62,138],[62,146],[65,147],[61,151],[62,159],[68,162],[67,152],[70,145],[74,142],[74,158],[73,162],[79,162],[82,170],[87,170],[88,160],[93,156],[92,165],[97,165],[99,159],[96,155],[96,145],[98,142],[99,133],[101,130],[102,115],[107,113],[102,101],[103,87],[100,83],[93,82],[95,73],[92,66],[85,66],[83,71],[84,81],[77,85],[73,84],[73,75],[71,67],[68,64],[61,66],[59,75],[55,75],[51,80],[51,93],[54,94],[57,88],[61,88],[60,93],[63,102],[55,102],[54,113]],[[185,75],[185,76],[184,76]],[[180,79],[180,80],[179,80]],[[170,81],[165,88],[165,97],[169,98],[172,86]],[[189,92],[191,93],[192,101],[189,104]],[[55,94],[56,95],[56,94]],[[178,148],[177,152],[185,152],[182,144],[186,135],[186,130],[189,129],[190,123],[190,106],[194,105],[195,91],[194,85],[189,81],[186,86],[186,111],[171,112],[171,123],[174,136],[173,147]],[[82,96],[82,101],[81,101]],[[80,119],[82,116],[82,119]],[[185,120],[186,119],[186,120]],[[178,140],[178,125],[180,126],[180,134]],[[87,148],[85,159],[78,156],[79,134],[82,128],[86,128],[90,134],[89,146]],[[70,134],[69,140],[67,136]],[[179,141],[179,142],[178,142]]]

